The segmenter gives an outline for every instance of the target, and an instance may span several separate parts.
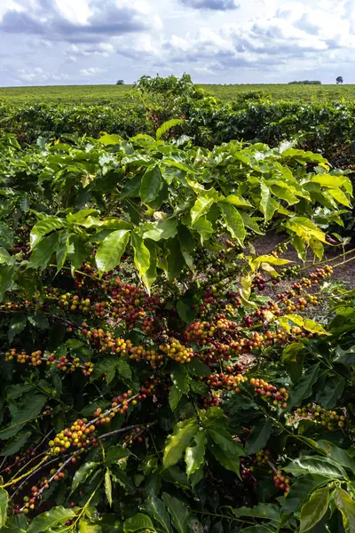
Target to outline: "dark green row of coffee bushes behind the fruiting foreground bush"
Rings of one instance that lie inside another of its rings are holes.
[[[123,92],[111,103],[104,94],[101,105],[99,101],[96,105],[19,105],[0,98],[0,131],[15,134],[21,144],[36,142],[40,136],[98,137],[100,131],[127,139],[152,134],[162,123],[182,116],[184,122],[171,134],[185,134],[198,146],[210,148],[239,139],[274,147],[295,139],[300,147],[322,153],[336,167],[355,164],[352,101],[275,101],[266,91],[244,91],[222,101],[196,88],[186,75],[181,79],[144,76],[134,91]]]

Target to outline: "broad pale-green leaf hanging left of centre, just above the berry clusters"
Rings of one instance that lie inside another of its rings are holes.
[[[101,275],[119,265],[129,238],[130,231],[128,229],[119,229],[107,235],[106,239],[102,241],[95,258]]]

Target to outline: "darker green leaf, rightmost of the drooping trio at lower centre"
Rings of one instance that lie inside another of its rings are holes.
[[[208,426],[208,432],[213,441],[209,442],[209,450],[221,465],[240,477],[239,457],[247,455],[245,449],[241,444],[235,442],[232,435],[221,426],[216,426],[215,429],[213,426]]]

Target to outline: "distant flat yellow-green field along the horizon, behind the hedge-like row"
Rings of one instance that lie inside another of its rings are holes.
[[[200,85],[218,99],[229,100],[241,92],[264,91],[272,99],[289,100],[339,100],[355,99],[355,85],[288,85],[288,84],[240,84],[240,85]],[[0,88],[0,100],[12,103],[120,103],[132,89],[132,85],[50,85],[38,87]]]

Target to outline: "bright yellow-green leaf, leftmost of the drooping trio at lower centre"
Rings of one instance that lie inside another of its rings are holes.
[[[189,418],[177,423],[164,449],[164,468],[177,464],[198,430],[199,425],[195,418]]]

